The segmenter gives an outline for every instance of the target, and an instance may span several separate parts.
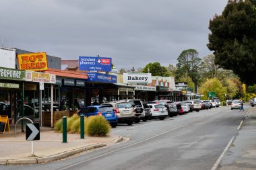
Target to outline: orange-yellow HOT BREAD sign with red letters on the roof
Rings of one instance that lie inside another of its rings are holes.
[[[48,71],[46,52],[18,54],[20,70]]]

